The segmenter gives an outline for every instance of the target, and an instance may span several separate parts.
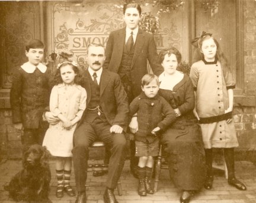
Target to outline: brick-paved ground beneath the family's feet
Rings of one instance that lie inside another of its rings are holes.
[[[65,194],[63,198],[55,197],[56,178],[55,178],[55,162],[50,161],[52,170],[52,182],[50,199],[53,203],[73,203],[75,197],[71,198]],[[8,184],[11,176],[18,172],[21,168],[21,161],[5,160],[0,163],[0,202],[13,203],[8,197],[8,192],[4,191],[4,185]],[[196,194],[191,203],[255,203],[256,202],[256,166],[251,162],[236,162],[236,176],[243,180],[247,185],[247,191],[238,191],[236,188],[229,186],[225,177],[216,175],[213,184],[213,189],[207,191],[202,189],[199,194]],[[88,174],[89,185],[87,187],[88,203],[103,203],[104,182],[106,175],[103,177],[93,177],[91,173]],[[71,185],[75,188],[75,180],[72,173]],[[159,182],[159,190],[153,195],[147,197],[140,197],[137,195],[137,180],[129,172],[129,160],[126,161],[123,173],[121,175],[121,185],[123,187],[123,195],[116,195],[120,203],[178,203],[180,198],[180,191],[174,188],[174,185],[169,179],[168,171],[162,170],[161,180]],[[116,193],[117,194],[117,193]]]

